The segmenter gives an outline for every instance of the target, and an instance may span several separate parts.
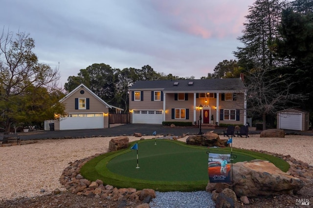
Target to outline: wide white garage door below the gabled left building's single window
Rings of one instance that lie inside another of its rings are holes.
[[[73,113],[60,119],[60,130],[90,128],[103,128],[103,113]]]

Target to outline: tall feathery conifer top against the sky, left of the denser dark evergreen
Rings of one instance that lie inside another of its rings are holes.
[[[278,64],[269,46],[277,36],[283,5],[280,0],[256,0],[249,7],[243,36],[238,38],[244,47],[234,52],[241,66],[253,68],[257,64],[267,68]]]

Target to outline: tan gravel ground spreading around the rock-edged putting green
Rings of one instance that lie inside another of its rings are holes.
[[[153,136],[143,136],[151,139]],[[179,140],[185,141],[187,137]],[[223,137],[221,137],[223,139]],[[19,146],[0,147],[0,201],[38,197],[62,188],[59,177],[68,163],[108,151],[112,137],[22,141]],[[130,142],[140,138],[129,136]],[[313,164],[313,136],[286,138],[233,138],[233,147],[291,155]],[[44,192],[41,192],[45,190]]]

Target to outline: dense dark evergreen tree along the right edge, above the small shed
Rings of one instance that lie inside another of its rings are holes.
[[[296,80],[293,92],[309,95],[301,102],[306,110],[313,111],[313,1],[296,0],[282,12],[279,37],[274,54],[284,59],[281,71]]]

